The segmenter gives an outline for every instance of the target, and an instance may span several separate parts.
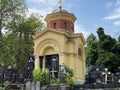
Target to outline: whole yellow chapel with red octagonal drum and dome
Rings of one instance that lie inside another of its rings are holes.
[[[63,63],[73,69],[74,80],[85,81],[85,39],[75,33],[76,17],[64,9],[56,9],[45,18],[47,27],[33,36],[35,69],[49,68],[59,75]]]

